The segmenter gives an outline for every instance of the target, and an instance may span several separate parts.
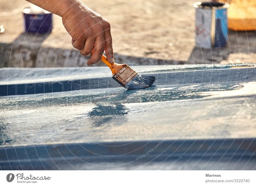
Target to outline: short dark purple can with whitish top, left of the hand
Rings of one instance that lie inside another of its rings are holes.
[[[30,33],[50,33],[52,31],[52,13],[36,5],[23,10],[25,31]]]

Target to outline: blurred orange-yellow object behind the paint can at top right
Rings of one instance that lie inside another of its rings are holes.
[[[256,30],[256,0],[222,0],[228,2],[228,28],[236,31]]]

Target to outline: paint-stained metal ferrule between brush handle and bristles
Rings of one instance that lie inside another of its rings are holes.
[[[130,82],[137,74],[138,73],[132,70],[130,66],[124,64],[124,67],[113,75],[113,79],[124,88],[127,88],[125,85]]]

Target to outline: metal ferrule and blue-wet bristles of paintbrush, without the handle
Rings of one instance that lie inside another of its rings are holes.
[[[155,81],[154,76],[140,75],[126,64],[113,75],[113,79],[126,89],[144,89]]]

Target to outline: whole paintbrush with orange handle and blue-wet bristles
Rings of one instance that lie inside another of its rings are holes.
[[[155,81],[154,76],[140,75],[127,64],[110,63],[104,54],[101,61],[112,71],[112,78],[126,89],[148,88]]]

